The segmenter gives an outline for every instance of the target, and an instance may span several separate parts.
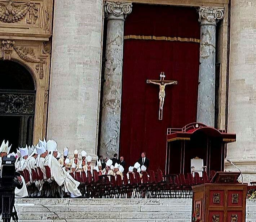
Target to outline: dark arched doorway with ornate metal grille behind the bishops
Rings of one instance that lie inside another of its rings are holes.
[[[35,98],[30,72],[19,63],[0,60],[0,141],[9,140],[11,151],[33,142]]]

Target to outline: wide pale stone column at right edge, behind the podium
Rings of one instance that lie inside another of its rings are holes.
[[[237,142],[228,144],[227,159],[243,172],[243,182],[256,178],[256,4],[231,1],[228,131]],[[225,169],[237,171],[228,162]]]

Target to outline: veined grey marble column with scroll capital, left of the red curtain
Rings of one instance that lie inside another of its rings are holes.
[[[119,151],[124,20],[131,11],[131,3],[105,3],[107,43],[100,146],[104,157]]]

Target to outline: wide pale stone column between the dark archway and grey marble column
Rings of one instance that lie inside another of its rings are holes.
[[[101,0],[55,1],[47,139],[59,151],[97,151],[102,18]]]

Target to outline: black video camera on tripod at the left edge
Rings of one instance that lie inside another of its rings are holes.
[[[22,188],[20,174],[15,171],[15,157],[3,157],[0,172],[0,213],[3,222],[18,222],[18,215],[14,207],[14,190]],[[14,212],[13,212],[14,209]]]

